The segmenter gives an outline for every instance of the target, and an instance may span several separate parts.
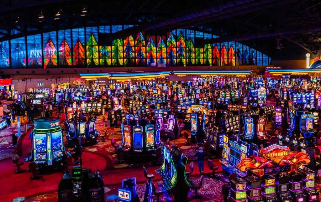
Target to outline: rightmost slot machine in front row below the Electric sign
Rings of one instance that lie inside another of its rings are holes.
[[[319,201],[319,192],[315,186],[316,173],[307,167],[304,169],[298,169],[299,173],[303,174],[303,191],[307,196],[308,201],[317,202]]]

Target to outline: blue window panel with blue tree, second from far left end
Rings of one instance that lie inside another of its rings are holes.
[[[15,38],[10,42],[12,68],[26,67],[26,39],[24,37]]]

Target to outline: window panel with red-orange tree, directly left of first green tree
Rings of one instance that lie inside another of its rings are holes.
[[[73,65],[82,66],[85,64],[85,29],[73,29]]]

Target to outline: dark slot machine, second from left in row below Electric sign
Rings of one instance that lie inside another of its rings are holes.
[[[247,182],[247,200],[248,202],[261,202],[263,201],[261,195],[262,181],[256,176],[248,176],[245,178]]]

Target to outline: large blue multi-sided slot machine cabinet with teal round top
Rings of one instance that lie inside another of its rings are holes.
[[[63,156],[64,145],[59,119],[41,118],[35,120],[32,130],[32,159],[37,164],[54,165]]]

